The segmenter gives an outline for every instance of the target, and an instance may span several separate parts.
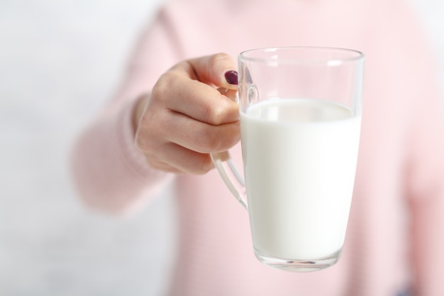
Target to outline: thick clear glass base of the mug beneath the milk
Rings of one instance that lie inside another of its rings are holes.
[[[292,271],[295,273],[307,273],[311,271],[328,268],[338,262],[342,248],[339,251],[323,258],[313,260],[293,260],[270,257],[265,253],[257,251],[255,248],[255,256],[257,260],[272,268],[280,270]]]

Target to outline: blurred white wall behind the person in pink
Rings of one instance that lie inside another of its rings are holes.
[[[444,1],[410,0],[444,93]],[[0,0],[0,295],[162,295],[174,207],[91,212],[67,166],[162,0]]]

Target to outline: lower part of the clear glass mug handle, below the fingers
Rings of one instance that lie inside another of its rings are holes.
[[[221,175],[223,182],[234,195],[235,199],[248,210],[247,194],[245,181],[239,174],[238,169],[235,167],[233,159],[228,151],[219,153],[210,153],[211,160]]]

